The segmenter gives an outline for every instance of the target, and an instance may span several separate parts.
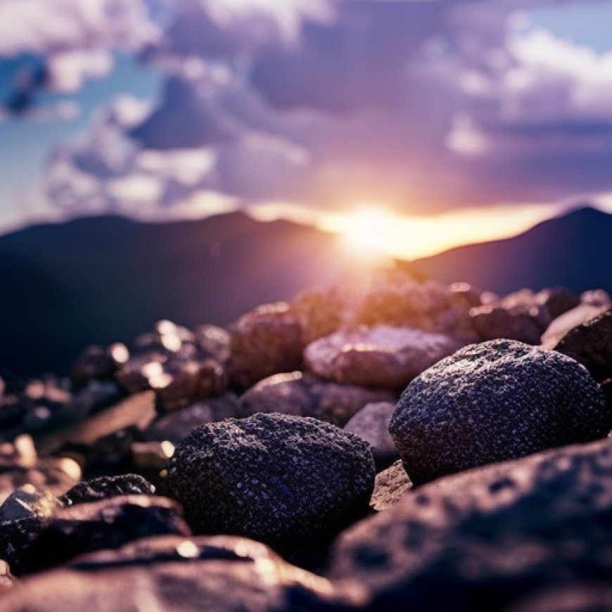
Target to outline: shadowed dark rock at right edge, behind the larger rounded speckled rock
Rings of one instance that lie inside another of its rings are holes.
[[[599,383],[612,378],[612,310],[568,331],[554,350],[580,362]]]

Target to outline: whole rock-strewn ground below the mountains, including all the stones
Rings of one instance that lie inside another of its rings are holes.
[[[612,611],[611,307],[385,272],[4,376],[0,611]]]

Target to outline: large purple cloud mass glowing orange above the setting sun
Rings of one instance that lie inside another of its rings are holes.
[[[124,98],[58,148],[50,197],[164,216],[611,191],[612,54],[530,29],[533,4],[170,2],[162,34],[139,48],[167,75],[160,99]]]

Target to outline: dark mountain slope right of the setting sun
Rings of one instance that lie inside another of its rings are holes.
[[[612,215],[581,208],[514,238],[454,248],[412,265],[440,281],[498,293],[559,285],[612,293]]]

